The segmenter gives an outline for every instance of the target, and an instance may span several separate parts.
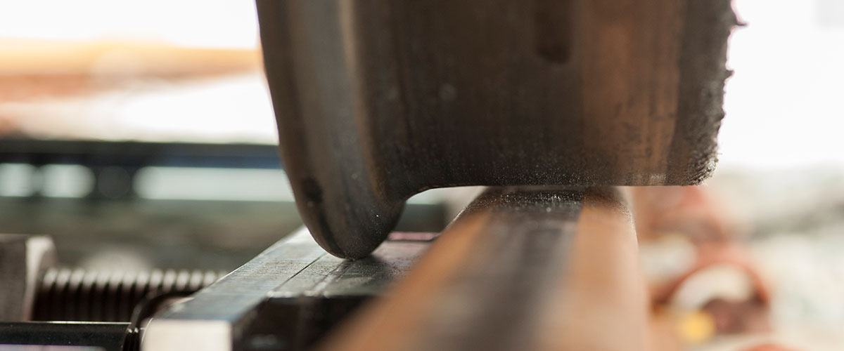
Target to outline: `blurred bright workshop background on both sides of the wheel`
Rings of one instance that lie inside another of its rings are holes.
[[[652,290],[671,286],[657,315],[693,349],[840,349],[844,2],[734,8],[715,177],[630,190],[675,210],[636,218]],[[249,0],[0,2],[0,232],[89,269],[245,263],[300,226],[262,74]],[[439,231],[473,191],[414,197],[398,229]]]

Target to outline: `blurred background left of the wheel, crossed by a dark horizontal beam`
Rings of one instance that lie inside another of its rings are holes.
[[[0,2],[0,231],[62,263],[235,269],[300,226],[277,138],[251,1]]]

